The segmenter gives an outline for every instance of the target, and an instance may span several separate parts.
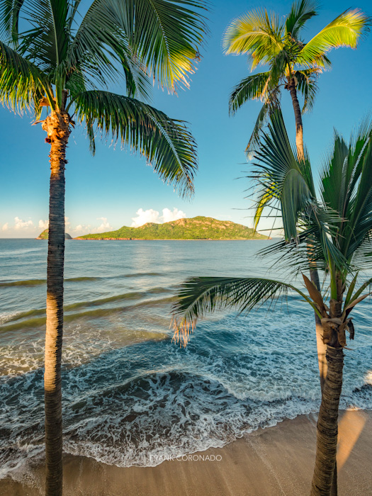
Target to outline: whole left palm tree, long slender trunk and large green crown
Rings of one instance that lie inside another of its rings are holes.
[[[169,91],[188,86],[206,32],[204,0],[0,0],[0,101],[30,111],[50,144],[50,210],[45,337],[46,493],[62,494],[61,356],[64,169],[72,128],[140,152],[159,177],[193,193],[191,133],[144,100],[150,77]],[[109,91],[122,84],[124,94]],[[46,115],[45,110],[46,108]],[[44,113],[44,118],[42,115]]]

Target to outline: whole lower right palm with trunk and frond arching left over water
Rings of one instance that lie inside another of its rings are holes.
[[[366,289],[372,283],[360,276],[361,270],[372,267],[372,123],[363,122],[348,144],[335,134],[333,151],[320,173],[319,198],[308,154],[304,150],[303,159],[298,159],[291,149],[280,111],[271,115],[269,131],[261,138],[254,174],[261,188],[269,191],[271,205],[281,210],[285,237],[261,255],[276,254],[276,267],[287,269],[291,281],[293,275],[302,274],[305,289],[269,278],[190,278],[174,304],[174,340],[186,345],[196,321],[210,311],[231,307],[249,312],[269,300],[285,298],[288,292],[305,300],[321,320],[328,365],[311,494],[329,495],[346,331],[354,339],[350,314],[368,296]],[[324,275],[323,292],[304,274],[313,264]]]

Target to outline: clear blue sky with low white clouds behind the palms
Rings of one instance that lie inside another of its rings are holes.
[[[191,88],[179,91],[178,96],[154,88],[152,100],[172,118],[190,123],[199,155],[193,201],[179,198],[144,159],[122,150],[120,145],[100,143],[96,157],[91,157],[84,130],[76,129],[67,150],[67,232],[78,235],[111,230],[144,220],[169,220],[174,215],[208,215],[251,225],[252,211],[247,210],[250,203],[244,199],[249,182],[237,178],[249,169],[244,148],[261,103],[249,102],[235,117],[228,116],[230,90],[249,74],[249,67],[244,56],[223,55],[222,34],[227,24],[245,11],[265,6],[285,15],[291,2],[215,0],[211,4],[210,37]],[[353,5],[344,0],[325,2],[320,15],[308,23],[305,40],[350,6],[372,15],[366,0]],[[357,50],[340,48],[329,54],[333,68],[320,76],[315,109],[304,117],[304,139],[315,169],[332,141],[333,128],[349,136],[363,115],[371,111],[371,49],[372,34]],[[287,93],[282,106],[288,132],[294,137]],[[31,127],[31,123],[29,115],[21,118],[0,107],[0,237],[35,237],[47,219],[49,147],[43,130],[38,125]],[[168,210],[163,217],[164,209]]]

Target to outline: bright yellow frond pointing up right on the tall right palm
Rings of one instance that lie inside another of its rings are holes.
[[[361,36],[365,35],[371,18],[359,9],[349,9],[337,16],[303,47],[299,62],[320,64],[322,55],[337,47],[355,48]]]

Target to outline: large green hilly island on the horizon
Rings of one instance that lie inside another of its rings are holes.
[[[230,220],[193,217],[164,224],[147,222],[140,227],[120,227],[116,231],[79,236],[75,239],[269,239],[251,227]]]

